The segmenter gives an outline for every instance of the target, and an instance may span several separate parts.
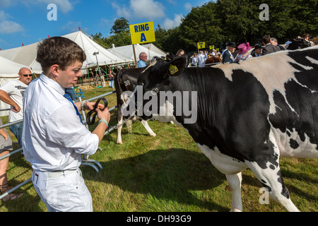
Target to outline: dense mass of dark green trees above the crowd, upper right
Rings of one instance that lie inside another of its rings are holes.
[[[269,6],[269,20],[260,20],[261,4]],[[255,44],[264,35],[284,43],[304,32],[318,34],[317,0],[218,0],[192,8],[179,25],[179,42],[186,51],[197,42],[224,48],[226,42]]]

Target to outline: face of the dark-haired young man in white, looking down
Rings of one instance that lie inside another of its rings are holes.
[[[64,88],[72,88],[73,85],[76,85],[78,77],[83,76],[81,72],[82,66],[83,64],[81,62],[76,61],[71,66],[67,66],[64,71],[59,69],[57,83]]]

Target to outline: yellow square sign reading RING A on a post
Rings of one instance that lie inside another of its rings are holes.
[[[129,25],[129,29],[132,44],[155,42],[155,28],[153,28],[153,21]]]

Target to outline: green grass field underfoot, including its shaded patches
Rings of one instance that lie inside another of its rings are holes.
[[[86,90],[86,99],[110,92],[109,88]],[[114,94],[107,96],[109,107],[116,105]],[[6,123],[7,117],[1,117]],[[116,124],[112,112],[110,125]],[[199,151],[189,134],[174,124],[149,121],[157,136],[148,136],[137,121],[133,133],[123,129],[123,144],[117,145],[117,132],[105,136],[100,148],[90,159],[98,160],[103,169],[95,172],[81,167],[97,212],[227,212],[231,193],[225,175],[218,172]],[[92,130],[90,128],[90,130]],[[12,133],[13,141],[16,141]],[[15,148],[17,149],[17,148]],[[281,172],[290,196],[300,211],[318,210],[317,160],[281,158]],[[31,167],[23,155],[10,158],[9,184],[16,186],[31,177]],[[285,212],[272,199],[259,203],[261,183],[251,170],[242,172],[243,210]],[[32,183],[16,191],[24,196],[14,201],[0,201],[1,212],[45,212],[45,204],[37,196]]]

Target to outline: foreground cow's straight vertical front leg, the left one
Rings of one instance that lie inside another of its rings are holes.
[[[226,174],[226,179],[230,185],[232,191],[232,208],[231,212],[241,212],[242,207],[242,196],[241,196],[241,183],[242,183],[242,174]]]

